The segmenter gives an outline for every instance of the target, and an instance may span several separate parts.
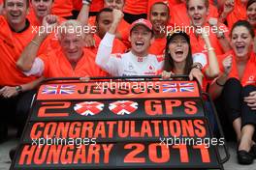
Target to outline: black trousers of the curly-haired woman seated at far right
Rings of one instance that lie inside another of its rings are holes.
[[[256,91],[255,86],[242,87],[240,80],[230,78],[225,83],[219,99],[215,100],[218,115],[227,138],[236,139],[232,123],[237,118],[241,119],[241,127],[256,125],[256,112],[243,101],[243,98],[248,97],[249,93],[253,91]]]

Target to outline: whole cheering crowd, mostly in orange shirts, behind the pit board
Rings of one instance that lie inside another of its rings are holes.
[[[253,162],[256,0],[0,3],[0,141],[10,123],[20,136],[45,78],[187,74],[235,131],[239,163]]]

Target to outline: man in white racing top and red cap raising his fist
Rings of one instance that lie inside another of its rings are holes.
[[[148,54],[148,48],[154,41],[152,24],[146,19],[133,22],[129,36],[131,51],[124,54],[112,54],[114,34],[123,17],[119,10],[113,10],[112,13],[112,26],[100,43],[96,64],[113,76],[156,75],[157,71],[163,67],[163,57]]]

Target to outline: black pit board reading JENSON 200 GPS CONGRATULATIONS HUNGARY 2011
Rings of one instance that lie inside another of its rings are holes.
[[[197,82],[138,82],[42,85],[11,169],[221,169]]]

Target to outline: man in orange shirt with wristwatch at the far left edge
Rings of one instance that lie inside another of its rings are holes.
[[[7,117],[10,116],[19,129],[18,134],[22,132],[34,95],[31,91],[25,92],[31,89],[26,84],[36,79],[33,76],[24,76],[16,68],[18,56],[33,39],[34,34],[26,19],[28,4],[28,0],[6,0],[5,16],[0,16],[0,110],[8,111],[8,114],[1,114],[0,124],[5,125],[8,122]]]

